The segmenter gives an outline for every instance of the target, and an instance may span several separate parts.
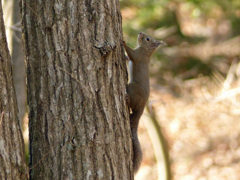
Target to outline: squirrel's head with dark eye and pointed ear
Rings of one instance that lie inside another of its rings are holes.
[[[138,34],[138,46],[145,48],[147,51],[149,51],[151,54],[159,47],[159,46],[165,46],[167,45],[163,41],[157,41],[153,39],[151,36],[148,36],[147,34],[140,32]]]

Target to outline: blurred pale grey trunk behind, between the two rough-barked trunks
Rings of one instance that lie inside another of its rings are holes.
[[[26,75],[20,32],[19,0],[3,0],[4,22],[6,26],[8,48],[13,61],[13,80],[16,89],[19,119],[26,113]]]

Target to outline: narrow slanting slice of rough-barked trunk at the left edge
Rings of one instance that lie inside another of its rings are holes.
[[[0,2],[0,179],[22,180],[27,179],[27,167],[2,16]]]

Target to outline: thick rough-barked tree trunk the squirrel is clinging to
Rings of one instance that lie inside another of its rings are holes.
[[[21,6],[30,179],[133,179],[119,2]]]

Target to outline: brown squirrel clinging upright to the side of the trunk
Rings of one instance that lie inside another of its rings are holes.
[[[142,150],[138,140],[138,123],[143,114],[144,107],[147,103],[150,87],[149,87],[149,61],[153,52],[161,45],[167,45],[163,41],[157,41],[151,36],[140,32],[138,35],[138,46],[131,49],[122,41],[129,61],[130,81],[127,84],[126,102],[131,109],[130,125],[132,132],[133,143],[133,170],[134,174],[137,173],[141,161]]]

